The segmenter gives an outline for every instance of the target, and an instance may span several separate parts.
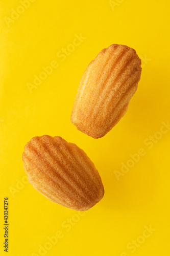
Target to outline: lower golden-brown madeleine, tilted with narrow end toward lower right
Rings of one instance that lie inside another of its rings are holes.
[[[94,164],[81,148],[61,137],[32,138],[22,160],[29,182],[54,203],[87,210],[104,196]]]

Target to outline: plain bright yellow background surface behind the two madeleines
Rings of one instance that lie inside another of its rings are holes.
[[[170,253],[170,131],[151,149],[145,143],[170,119],[170,4],[167,0],[112,2],[111,6],[101,0],[36,0],[8,26],[7,17],[20,2],[1,1],[1,255],[7,255],[3,251],[4,197],[9,197],[10,256],[41,255],[39,245],[44,246],[58,230],[63,238],[45,255]],[[86,39],[62,61],[57,53],[72,44],[75,34]],[[142,75],[123,119],[104,138],[93,139],[71,124],[70,114],[88,63],[111,44],[134,48],[142,58]],[[27,83],[33,83],[34,75],[53,60],[58,68],[30,93]],[[104,198],[80,220],[76,211],[50,202],[22,182],[26,176],[23,147],[32,137],[44,134],[76,143],[102,177]],[[117,180],[114,171],[120,171],[121,163],[141,147],[145,155]],[[67,218],[78,220],[69,231],[62,226]],[[156,230],[132,253],[127,244],[150,225]]]

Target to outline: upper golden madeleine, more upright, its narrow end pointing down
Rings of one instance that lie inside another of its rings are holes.
[[[103,137],[125,115],[140,75],[141,60],[134,49],[103,49],[82,76],[71,122],[93,138]]]

